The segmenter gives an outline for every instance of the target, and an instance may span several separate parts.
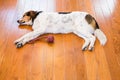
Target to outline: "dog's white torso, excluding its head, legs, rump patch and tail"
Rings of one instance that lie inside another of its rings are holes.
[[[46,33],[69,33],[73,32],[76,26],[86,26],[87,22],[85,16],[86,12],[71,12],[71,13],[57,13],[57,12],[43,12],[34,20],[33,29],[45,28]]]

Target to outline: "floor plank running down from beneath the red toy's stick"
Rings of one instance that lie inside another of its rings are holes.
[[[44,45],[44,46],[41,46]],[[37,42],[34,44],[32,64],[31,64],[31,79],[32,80],[46,80],[47,77],[47,66],[46,66],[46,43]],[[49,80],[49,79],[48,79]]]

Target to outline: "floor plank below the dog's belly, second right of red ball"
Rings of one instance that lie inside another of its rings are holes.
[[[75,65],[75,60],[74,60],[74,49],[73,49],[73,44],[71,40],[71,35],[66,35],[64,36],[64,45],[65,45],[65,79],[66,80],[76,80],[76,65]]]

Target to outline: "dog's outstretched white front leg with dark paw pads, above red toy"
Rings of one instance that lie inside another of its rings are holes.
[[[27,33],[26,35],[22,36],[18,40],[15,41],[15,45],[17,48],[21,48],[25,43],[29,42],[30,40],[42,35],[44,32],[42,30],[35,30],[32,32]]]

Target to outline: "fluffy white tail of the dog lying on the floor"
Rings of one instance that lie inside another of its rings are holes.
[[[96,29],[94,35],[98,38],[100,44],[104,46],[105,43],[107,42],[105,34],[100,29]]]

